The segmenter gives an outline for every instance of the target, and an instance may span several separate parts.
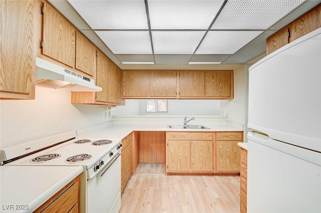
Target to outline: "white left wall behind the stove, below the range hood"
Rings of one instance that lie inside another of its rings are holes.
[[[111,120],[106,106],[71,104],[71,92],[36,86],[35,100],[0,101],[0,147]]]

